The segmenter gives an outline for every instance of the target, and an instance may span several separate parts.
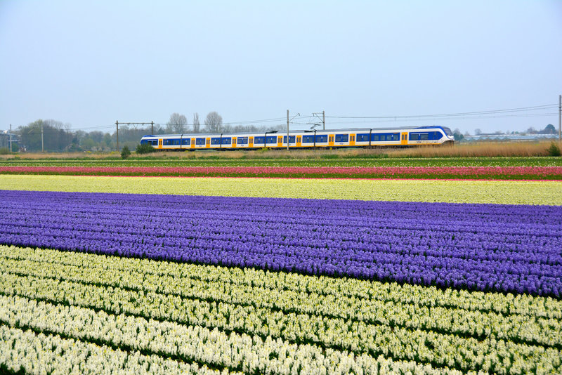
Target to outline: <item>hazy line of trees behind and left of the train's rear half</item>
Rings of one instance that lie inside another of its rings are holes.
[[[41,128],[43,144],[41,145]],[[174,112],[166,124],[152,126],[119,126],[119,148],[124,146],[134,150],[146,134],[188,134],[188,133],[237,133],[280,130],[283,126],[254,126],[223,124],[223,118],[217,112],[209,112],[200,124],[199,114],[193,114],[192,124],[188,124],[183,114]],[[117,150],[117,130],[104,131],[72,131],[70,124],[63,124],[53,119],[38,119],[25,126],[20,126],[13,132],[17,137],[17,145],[26,152],[111,152]],[[13,146],[13,150],[15,147]]]

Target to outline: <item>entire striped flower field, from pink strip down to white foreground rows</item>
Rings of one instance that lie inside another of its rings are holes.
[[[560,167],[131,168],[1,167],[0,374],[562,373]]]

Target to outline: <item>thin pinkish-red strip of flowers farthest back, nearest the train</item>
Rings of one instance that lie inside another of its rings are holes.
[[[292,178],[562,179],[562,166],[0,166],[0,174]]]

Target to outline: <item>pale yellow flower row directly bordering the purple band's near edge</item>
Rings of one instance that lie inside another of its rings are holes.
[[[177,282],[189,280],[214,283],[223,282],[233,287],[262,288],[287,291],[294,294],[313,295],[344,301],[346,298],[369,301],[384,301],[397,304],[414,305],[419,308],[451,308],[466,311],[492,312],[500,315],[530,315],[537,318],[562,319],[562,301],[550,297],[530,296],[528,294],[483,293],[455,289],[436,289],[396,282],[376,282],[352,278],[333,278],[299,275],[297,273],[270,272],[254,268],[226,268],[216,265],[192,265],[171,263],[150,259],[121,258],[98,254],[58,251],[54,249],[32,249],[0,245],[1,258],[32,264],[36,268],[44,265],[53,269],[70,265],[77,268],[92,269],[96,272],[129,273],[143,280],[167,277]],[[89,277],[95,277],[91,272]],[[90,279],[93,284],[107,282]],[[114,280],[114,282],[117,282]],[[122,282],[121,280],[119,282]],[[123,282],[125,282],[123,280]],[[122,285],[122,284],[119,284]],[[137,286],[145,291],[181,294],[168,284],[142,282]],[[139,289],[140,290],[140,289]],[[184,291],[185,292],[185,291]]]

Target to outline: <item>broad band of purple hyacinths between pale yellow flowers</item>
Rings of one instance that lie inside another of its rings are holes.
[[[562,295],[561,206],[9,191],[0,198],[4,244]]]

